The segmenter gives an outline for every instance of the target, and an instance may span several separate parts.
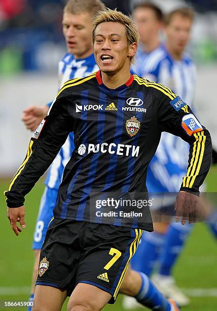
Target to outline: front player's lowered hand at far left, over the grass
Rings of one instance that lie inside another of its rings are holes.
[[[7,207],[7,217],[16,235],[19,235],[19,232],[26,228],[24,205],[20,207]],[[17,223],[20,223],[22,229],[17,226]]]

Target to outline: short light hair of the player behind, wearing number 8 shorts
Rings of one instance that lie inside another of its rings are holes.
[[[69,0],[63,12],[71,14],[90,13],[92,16],[95,16],[104,9],[105,6],[100,0]]]

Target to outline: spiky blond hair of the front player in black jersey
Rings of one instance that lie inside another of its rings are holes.
[[[124,15],[122,12],[115,10],[111,10],[106,8],[106,10],[100,11],[95,16],[93,23],[92,23],[92,40],[94,43],[95,40],[95,30],[96,27],[104,22],[117,22],[124,25],[126,29],[126,37],[127,37],[127,46],[129,47],[131,44],[136,42],[138,44],[139,41],[139,34],[138,30],[135,26],[134,21],[131,17]],[[134,62],[135,55],[130,57],[130,63]]]

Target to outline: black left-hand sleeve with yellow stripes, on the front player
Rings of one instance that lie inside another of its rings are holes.
[[[24,196],[45,173],[73,131],[73,123],[66,97],[61,92],[31,137],[26,157],[11,180],[9,190],[5,191],[9,207],[23,205]]]

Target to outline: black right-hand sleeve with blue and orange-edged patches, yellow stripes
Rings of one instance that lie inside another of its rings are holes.
[[[183,178],[180,191],[199,195],[210,165],[212,155],[211,137],[201,125],[191,108],[180,97],[171,100],[164,97],[158,114],[159,129],[181,137],[189,143],[187,174]],[[182,157],[182,154],[180,155]]]

